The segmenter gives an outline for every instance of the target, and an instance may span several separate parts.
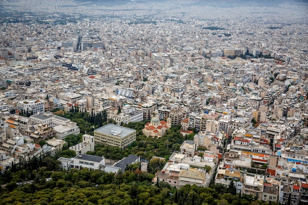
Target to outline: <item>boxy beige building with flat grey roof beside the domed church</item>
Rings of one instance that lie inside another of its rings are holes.
[[[107,124],[94,130],[95,144],[108,146],[129,146],[136,140],[136,130],[115,124]]]

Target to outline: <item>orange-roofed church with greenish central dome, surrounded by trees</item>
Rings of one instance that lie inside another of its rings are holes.
[[[153,117],[151,122],[145,124],[144,129],[142,130],[143,134],[147,137],[152,136],[153,138],[159,138],[163,136],[167,130],[171,127],[171,119],[167,118],[165,120],[159,120],[158,117]]]

